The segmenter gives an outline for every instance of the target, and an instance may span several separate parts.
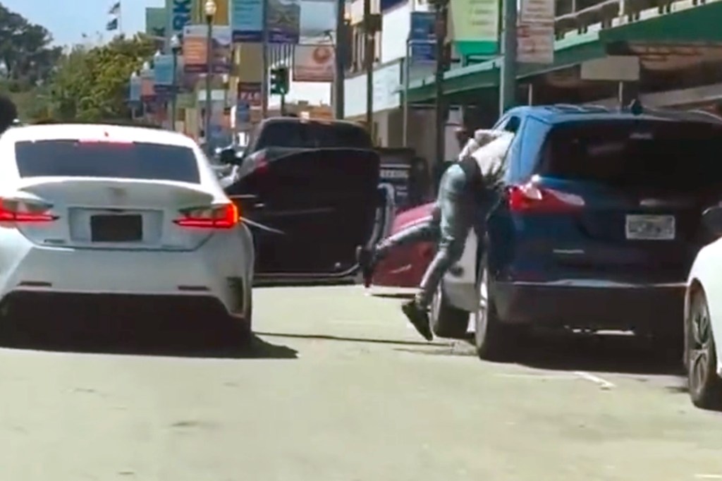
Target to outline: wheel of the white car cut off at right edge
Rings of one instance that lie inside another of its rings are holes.
[[[722,378],[717,375],[717,350],[707,297],[692,293],[684,319],[684,358],[692,404],[704,410],[722,410]]]

